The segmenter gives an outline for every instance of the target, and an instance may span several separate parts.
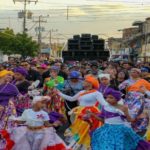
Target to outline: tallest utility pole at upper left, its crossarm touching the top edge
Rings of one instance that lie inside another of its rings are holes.
[[[14,3],[15,2],[22,2],[20,0],[13,0]],[[27,3],[31,3],[31,2],[34,2],[35,4],[38,2],[38,0],[24,0],[24,10],[23,10],[23,33],[26,33],[27,32],[27,29],[26,29],[26,16],[27,16]]]

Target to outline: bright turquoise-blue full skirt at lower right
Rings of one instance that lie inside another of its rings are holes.
[[[131,128],[124,125],[105,124],[92,134],[92,150],[136,150],[143,140]]]

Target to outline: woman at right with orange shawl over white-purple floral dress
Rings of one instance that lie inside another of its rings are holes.
[[[140,78],[141,71],[137,68],[131,69],[130,78],[119,85],[120,90],[126,91],[124,103],[129,107],[129,113],[132,118],[138,120],[132,123],[133,129],[143,136],[148,126],[148,115],[143,112],[145,107],[145,94],[141,92],[144,87],[147,91],[150,90],[150,83]]]

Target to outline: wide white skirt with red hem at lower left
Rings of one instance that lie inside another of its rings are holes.
[[[15,143],[15,150],[69,150],[52,127],[30,131],[22,126],[14,128],[9,134]]]

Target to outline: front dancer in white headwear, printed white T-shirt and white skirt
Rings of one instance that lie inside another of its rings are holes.
[[[43,110],[45,100],[47,97],[34,97],[31,109],[26,109],[20,117],[10,118],[18,124],[26,124],[26,126],[16,127],[9,132],[14,141],[13,149],[67,150],[65,143],[53,128],[58,124],[50,124],[48,113]]]

